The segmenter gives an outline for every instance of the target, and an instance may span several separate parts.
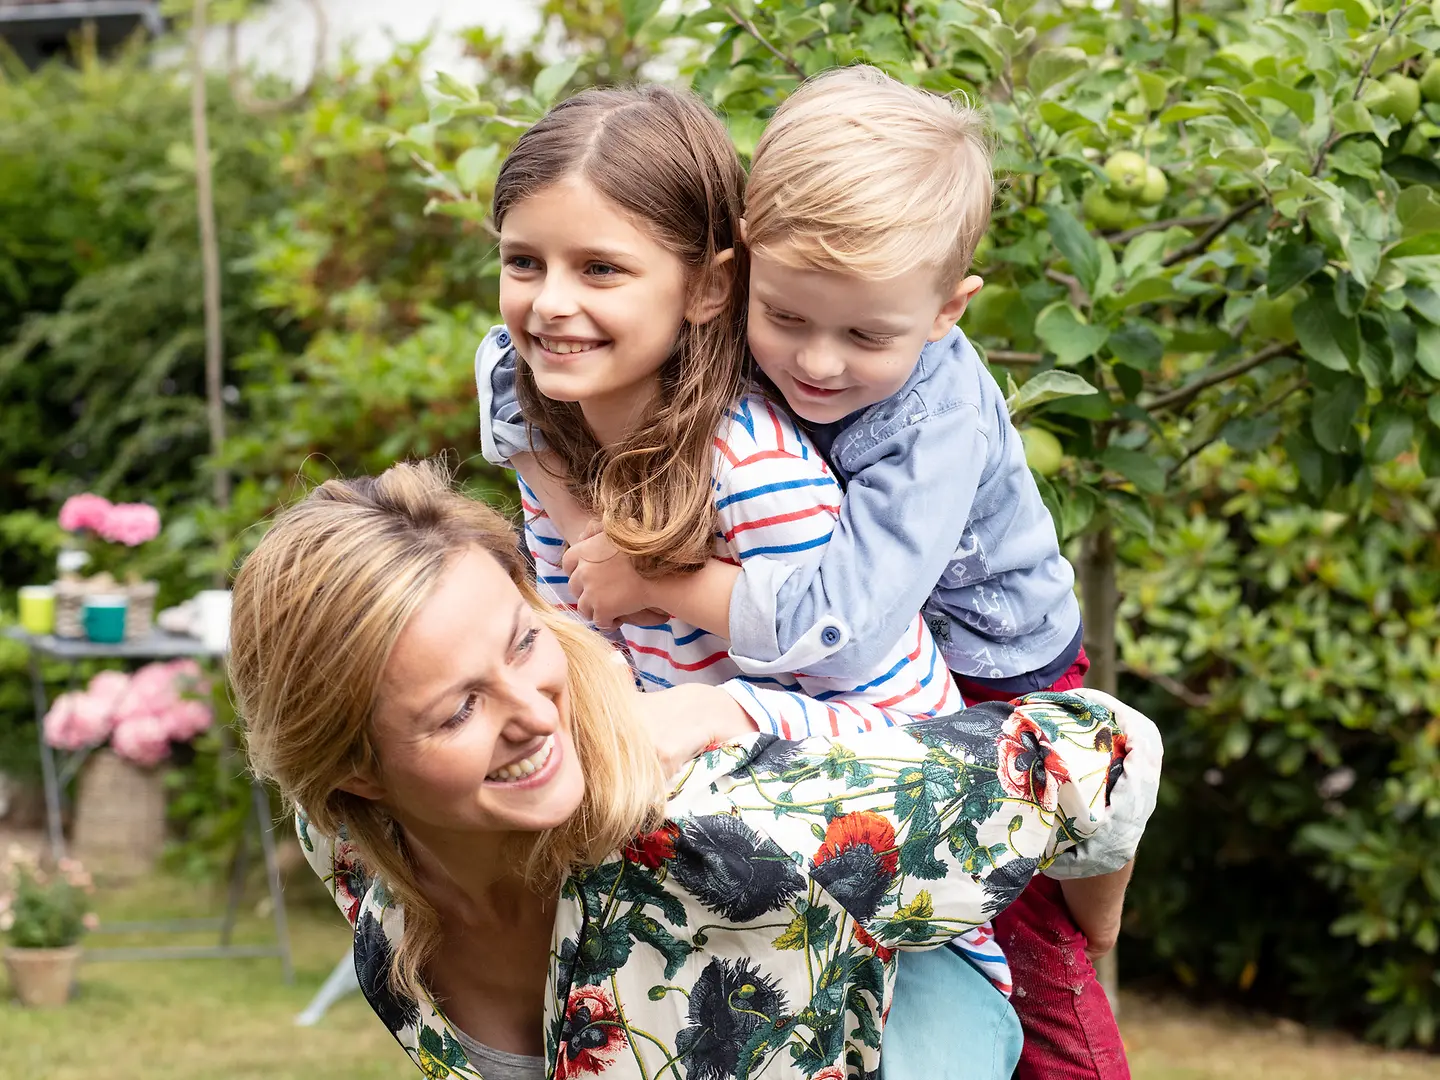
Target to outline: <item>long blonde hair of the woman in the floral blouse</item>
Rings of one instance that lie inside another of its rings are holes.
[[[628,668],[609,642],[540,599],[504,517],[456,491],[433,461],[330,480],[278,516],[235,579],[229,670],[251,768],[317,829],[343,829],[403,906],[390,981],[410,996],[439,945],[439,919],[403,831],[383,805],[340,785],[357,773],[383,778],[372,717],[390,652],[446,567],[477,547],[501,564],[569,664],[585,796],[520,858],[531,883],[553,887],[569,867],[654,828],[664,773],[632,711]]]

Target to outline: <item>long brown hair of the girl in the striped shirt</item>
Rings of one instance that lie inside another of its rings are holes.
[[[504,230],[514,206],[570,176],[648,223],[688,268],[693,295],[723,289],[727,302],[700,325],[685,321],[648,422],[619,445],[602,448],[579,406],[544,397],[526,364],[520,406],[564,464],[572,491],[641,573],[693,570],[714,547],[714,433],[744,383],[744,170],[724,124],[694,95],[589,89],[516,143],[495,181],[495,225]],[[726,249],[734,259],[716,266]]]

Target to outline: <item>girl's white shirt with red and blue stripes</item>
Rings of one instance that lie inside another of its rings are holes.
[[[752,393],[726,413],[714,449],[716,557],[734,564],[756,556],[796,564],[815,559],[835,527],[841,490],[789,413]],[[520,495],[541,595],[575,611],[570,579],[560,566],[560,530],[524,481]],[[719,685],[760,730],[782,739],[867,732],[965,707],[919,613],[883,661],[858,678],[802,671],[746,675],[730,658],[724,638],[678,619],[654,626],[626,624],[621,635],[645,690],[677,683]],[[956,939],[955,948],[1009,995],[1009,965],[989,923]]]

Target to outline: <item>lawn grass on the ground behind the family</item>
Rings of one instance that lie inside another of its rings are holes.
[[[344,955],[347,929],[308,881],[291,886],[295,984],[279,960],[88,963],[73,1002],[23,1009],[0,976],[0,1080],[412,1080],[419,1073],[359,995],[312,1028],[294,1017]],[[206,888],[157,878],[104,896],[112,922],[213,914]],[[238,942],[269,940],[253,907]],[[99,936],[91,945],[210,943]],[[1122,1022],[1135,1080],[1440,1080],[1440,1058],[1387,1054],[1295,1024],[1195,1011],[1128,994]]]

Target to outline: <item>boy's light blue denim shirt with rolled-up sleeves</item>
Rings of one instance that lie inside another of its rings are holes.
[[[503,327],[475,354],[475,383],[485,458],[531,449]],[[916,611],[969,678],[1038,671],[1073,645],[1074,570],[965,334],[927,344],[894,396],[811,435],[845,484],[840,520],[812,563],[746,562],[730,600],[743,671],[873,668]]]

